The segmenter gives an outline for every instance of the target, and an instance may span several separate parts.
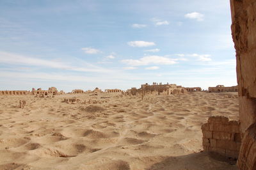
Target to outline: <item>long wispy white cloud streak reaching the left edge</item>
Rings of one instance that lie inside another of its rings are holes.
[[[109,72],[110,70],[100,68],[98,66],[93,66],[84,61],[79,61],[83,63],[84,66],[73,66],[70,63],[64,63],[63,61],[52,61],[47,59],[40,58],[31,58],[22,56],[19,54],[13,54],[10,52],[1,52],[0,51],[0,63],[6,63],[8,65],[26,65],[26,66],[41,66],[47,68],[58,68],[63,70],[71,70],[77,72]]]

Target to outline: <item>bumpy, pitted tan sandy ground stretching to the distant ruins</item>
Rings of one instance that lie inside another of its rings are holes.
[[[234,95],[0,96],[0,169],[236,169],[202,152],[200,129],[212,115],[237,120]],[[74,96],[106,102],[62,102]]]

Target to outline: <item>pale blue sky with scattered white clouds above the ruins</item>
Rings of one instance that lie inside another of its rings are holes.
[[[229,0],[0,0],[0,90],[236,86]]]

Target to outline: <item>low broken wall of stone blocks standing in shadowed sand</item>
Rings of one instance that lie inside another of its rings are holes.
[[[204,151],[237,158],[241,146],[239,121],[229,121],[224,116],[212,116],[202,125]]]

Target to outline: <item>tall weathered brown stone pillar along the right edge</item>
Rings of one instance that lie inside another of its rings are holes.
[[[256,169],[256,1],[230,0],[230,6],[243,133],[237,166]]]

